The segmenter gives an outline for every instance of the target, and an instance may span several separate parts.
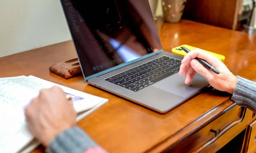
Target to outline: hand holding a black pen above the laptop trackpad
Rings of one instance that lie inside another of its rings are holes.
[[[195,57],[204,59],[210,65],[215,67],[220,73],[215,74],[209,69],[205,68]],[[234,76],[230,70],[221,62],[216,56],[209,54],[201,49],[195,49],[186,54],[181,62],[179,74],[185,74],[185,83],[191,83],[194,80],[195,74],[201,74],[204,76],[213,88],[219,91],[226,91],[233,94],[237,77]]]

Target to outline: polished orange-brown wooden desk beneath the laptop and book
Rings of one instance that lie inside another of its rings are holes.
[[[223,54],[225,64],[235,75],[256,80],[256,37],[188,20],[179,24],[158,21],[157,27],[165,51],[189,44]],[[2,57],[0,77],[34,75],[109,99],[108,104],[78,125],[110,153],[180,149],[215,152],[252,120],[252,111],[230,101],[230,95],[216,91],[204,91],[169,113],[160,114],[92,87],[83,77],[64,80],[49,73],[50,65],[72,58],[76,58],[76,53],[71,41]],[[220,129],[220,135],[215,137],[211,129]],[[38,147],[33,153],[39,152],[44,152],[44,148]]]

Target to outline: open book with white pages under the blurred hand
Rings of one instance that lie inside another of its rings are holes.
[[[42,88],[53,85],[71,95],[78,113],[77,122],[108,102],[34,76],[0,78],[0,153],[28,153],[40,144],[26,127],[24,108]]]

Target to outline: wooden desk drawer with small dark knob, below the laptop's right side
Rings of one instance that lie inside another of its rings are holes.
[[[244,130],[246,124],[252,119],[252,116],[252,111],[236,105],[167,152],[214,153]],[[228,136],[222,137],[227,131],[232,132]],[[216,141],[218,143],[215,143]]]

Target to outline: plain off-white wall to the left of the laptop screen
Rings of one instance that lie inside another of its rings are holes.
[[[70,39],[59,0],[0,0],[0,57]]]

